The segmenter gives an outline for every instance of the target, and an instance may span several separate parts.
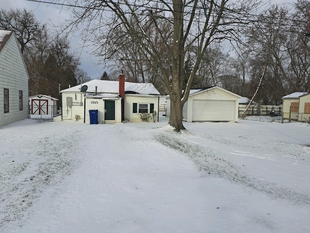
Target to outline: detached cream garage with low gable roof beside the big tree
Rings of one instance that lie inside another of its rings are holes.
[[[183,107],[183,119],[187,122],[238,122],[238,104],[241,98],[218,86],[192,89]],[[167,97],[167,116],[170,116],[169,97]]]

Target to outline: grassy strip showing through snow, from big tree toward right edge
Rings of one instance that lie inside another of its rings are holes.
[[[269,183],[255,177],[250,177],[237,166],[217,156],[214,151],[207,150],[199,145],[189,144],[180,138],[181,134],[179,135],[174,132],[155,135],[155,140],[185,154],[193,160],[200,170],[208,174],[251,187],[269,195],[271,198],[286,199],[295,204],[310,204],[309,194],[299,193],[282,187],[277,183]]]

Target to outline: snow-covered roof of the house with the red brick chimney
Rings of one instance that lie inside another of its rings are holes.
[[[61,92],[80,92],[81,86],[87,85],[86,93],[95,93],[97,86],[97,93],[119,94],[119,82],[107,80],[91,80],[82,85],[73,86],[62,90]],[[140,94],[140,95],[160,95],[152,83],[129,83],[125,82],[125,93]]]

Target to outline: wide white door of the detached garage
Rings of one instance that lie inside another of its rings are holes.
[[[193,121],[233,121],[234,101],[193,100]]]

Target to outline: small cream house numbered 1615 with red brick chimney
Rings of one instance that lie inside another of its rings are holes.
[[[124,120],[140,122],[141,114],[156,111],[155,121],[158,121],[160,93],[154,85],[128,83],[124,79],[121,74],[119,81],[92,80],[62,90],[62,119],[81,119],[84,123],[92,123],[95,114],[99,124]]]

